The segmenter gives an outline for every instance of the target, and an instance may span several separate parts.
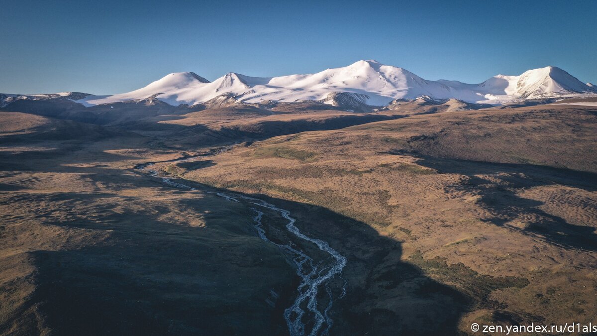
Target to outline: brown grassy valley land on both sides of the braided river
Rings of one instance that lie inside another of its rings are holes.
[[[414,115],[176,162],[206,148],[0,114],[0,334],[287,334],[293,262],[214,191],[287,209],[346,256],[330,334],[595,322],[590,106]],[[196,190],[134,169],[147,162]],[[283,219],[264,216],[276,242]]]

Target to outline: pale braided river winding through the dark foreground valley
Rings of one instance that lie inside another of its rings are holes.
[[[150,164],[139,166],[139,169],[150,172],[151,176],[161,178],[165,184],[170,185],[171,187],[188,189],[190,191],[196,190],[196,188],[189,187],[188,185],[170,181],[170,178],[168,177],[159,176],[160,172],[158,170],[147,169],[147,166],[149,165]],[[256,212],[253,221],[255,222],[255,228],[259,237],[265,242],[272,243],[293,256],[296,273],[301,278],[301,282],[297,288],[298,296],[296,300],[292,306],[284,311],[284,319],[288,325],[290,335],[327,335],[333,325],[333,320],[328,313],[334,303],[334,295],[329,285],[336,275],[340,276],[344,266],[346,266],[346,258],[331,248],[325,240],[309,237],[301,233],[296,225],[294,225],[296,219],[290,216],[290,211],[288,210],[276,207],[259,198],[248,197],[241,194],[230,195],[220,192],[214,192],[213,194],[223,197],[227,201],[240,202],[239,200],[244,200],[247,203],[263,207],[264,209],[269,209],[273,212],[278,212],[283,218],[288,220],[286,229],[290,233],[298,237],[298,239],[313,243],[321,251],[330,254],[329,258],[322,259],[315,264],[312,257],[300,251],[300,249],[293,247],[296,246],[293,242],[284,245],[272,242],[267,238],[266,231],[261,223],[264,213],[255,208],[251,208]],[[317,295],[319,293],[319,288],[321,287],[324,287],[329,298],[323,310],[319,308],[320,304],[317,301]],[[344,282],[341,291],[341,294],[337,298],[342,298],[346,295],[346,282]]]

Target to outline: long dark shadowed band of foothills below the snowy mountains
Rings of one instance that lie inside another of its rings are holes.
[[[151,104],[146,105],[147,102]],[[294,112],[302,111],[301,105],[325,104],[297,103],[297,106],[294,103],[290,104],[290,106],[298,108]],[[328,107],[324,111],[337,109],[334,106],[325,106]],[[23,142],[25,140],[69,140],[73,138],[93,140],[117,136],[120,132],[133,132],[159,139],[165,146],[171,148],[197,148],[198,146],[205,148],[313,130],[343,129],[359,124],[405,117],[404,115],[368,113],[321,116],[303,113],[301,115],[304,116],[304,119],[263,120],[263,117],[268,115],[291,113],[243,105],[199,111],[201,108],[196,106],[171,106],[158,99],[119,102],[88,108],[67,99],[17,100],[5,106],[3,110],[55,118],[54,122],[59,125],[50,130],[34,130],[35,132],[30,135],[7,136],[2,138],[2,141]],[[316,111],[319,110],[316,109]],[[160,123],[160,121],[180,119],[181,115],[192,115],[193,112],[201,114],[199,118],[202,121],[188,126]],[[338,109],[338,113],[340,112],[346,113],[346,111]],[[244,122],[238,125],[232,123],[232,126],[224,126],[220,129],[206,126],[206,124],[218,120],[243,120]]]

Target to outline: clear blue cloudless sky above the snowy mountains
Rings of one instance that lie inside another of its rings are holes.
[[[131,91],[170,72],[271,77],[376,59],[481,83],[597,82],[597,1],[0,0],[0,92]]]

